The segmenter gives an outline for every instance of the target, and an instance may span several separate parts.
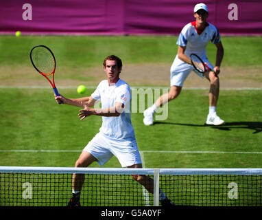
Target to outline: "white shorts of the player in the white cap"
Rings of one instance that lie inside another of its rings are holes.
[[[213,65],[211,65],[207,58],[201,58],[204,63],[207,63],[209,67],[213,68]],[[184,80],[186,80],[187,76],[189,76],[192,70],[195,72],[195,74],[198,74],[198,76],[204,78],[203,74],[195,71],[192,65],[184,63],[184,61],[181,61],[178,56],[176,56],[170,68],[170,86],[182,87]]]

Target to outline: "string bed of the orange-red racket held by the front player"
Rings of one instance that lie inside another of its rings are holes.
[[[32,51],[32,61],[38,71],[45,75],[50,75],[55,69],[54,58],[45,47],[36,47]]]

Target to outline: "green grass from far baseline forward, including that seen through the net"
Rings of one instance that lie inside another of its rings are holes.
[[[78,97],[75,89],[61,89],[61,92],[65,96]],[[93,89],[87,91],[88,94],[92,92]],[[184,90],[180,98],[169,102],[167,120],[156,121],[154,126],[143,125],[143,113],[132,113],[144,166],[261,168],[262,116],[261,109],[257,108],[262,101],[261,92],[221,91],[219,115],[226,120],[222,126],[204,125],[208,91],[201,89]],[[80,121],[79,108],[56,104],[51,89],[2,88],[0,97],[0,166],[74,166],[80,151],[99,131],[102,122],[96,116]],[[185,106],[184,102],[191,102],[193,108]],[[72,150],[78,152],[64,152]],[[97,166],[96,162],[91,165]],[[121,166],[112,157],[104,167]],[[63,179],[58,180],[60,177]],[[145,206],[143,188],[132,177],[125,177],[124,181],[116,175],[94,178],[86,175],[82,206]],[[166,181],[160,179],[160,188],[177,205],[261,205],[259,188],[253,188],[248,196],[244,188],[247,184],[259,186],[261,177],[230,179],[227,176],[224,180],[222,176],[188,175],[165,178]],[[65,206],[71,196],[71,175],[2,174],[1,181],[5,183],[0,190],[1,206]],[[232,181],[239,186],[239,199],[228,199],[228,184]],[[21,186],[25,182],[34,186],[32,199],[23,198],[25,188]],[[182,185],[185,182],[187,185]],[[149,197],[152,206],[153,197]]]

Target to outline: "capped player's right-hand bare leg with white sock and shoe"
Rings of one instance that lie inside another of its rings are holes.
[[[224,124],[224,120],[219,118],[216,112],[217,100],[219,97],[219,77],[213,72],[206,72],[204,76],[210,82],[209,90],[209,115],[206,118],[206,124],[220,125]]]

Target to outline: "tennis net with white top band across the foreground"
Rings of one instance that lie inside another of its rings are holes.
[[[82,206],[262,206],[260,168],[49,168],[0,166],[0,206],[67,206],[72,175],[84,174]],[[132,175],[154,179],[154,193]]]

